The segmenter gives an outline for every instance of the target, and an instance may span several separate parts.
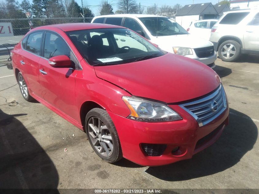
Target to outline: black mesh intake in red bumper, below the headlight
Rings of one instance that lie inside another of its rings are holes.
[[[166,144],[142,143],[141,147],[148,156],[161,156],[166,149]]]

